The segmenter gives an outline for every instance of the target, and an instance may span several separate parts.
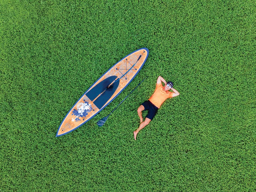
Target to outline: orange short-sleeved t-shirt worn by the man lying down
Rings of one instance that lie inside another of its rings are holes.
[[[173,97],[173,92],[163,90],[162,83],[159,83],[155,87],[155,92],[149,98],[149,101],[154,104],[158,109],[167,98]]]

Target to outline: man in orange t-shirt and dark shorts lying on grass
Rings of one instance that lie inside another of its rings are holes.
[[[162,82],[165,84],[165,86],[162,85]],[[169,90],[172,90],[173,92]],[[146,125],[148,125],[149,122],[154,118],[155,114],[157,113],[157,110],[160,108],[163,102],[167,98],[176,97],[178,95],[179,92],[176,89],[173,89],[173,83],[171,81],[166,82],[165,79],[161,76],[157,78],[155,92],[149,98],[149,100],[142,103],[137,110],[141,124],[139,125],[139,128],[136,131],[133,131],[135,140],[139,131],[142,130]],[[143,121],[142,118],[142,111],[144,110],[148,110],[148,114],[145,118],[145,121]]]

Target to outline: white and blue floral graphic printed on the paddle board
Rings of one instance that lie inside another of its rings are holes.
[[[74,109],[72,111],[72,115],[75,115],[75,118],[72,118],[71,121],[81,121],[81,119],[79,119],[79,117],[82,117],[84,120],[84,117],[86,117],[86,115],[88,115],[89,112],[91,112],[93,110],[93,108],[91,107],[91,104],[87,101],[85,101],[84,103],[80,102],[77,104],[77,109]]]

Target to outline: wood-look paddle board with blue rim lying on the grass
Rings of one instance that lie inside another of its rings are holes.
[[[70,109],[59,126],[56,137],[77,129],[113,101],[138,74],[148,55],[149,50],[141,48],[113,65]]]

